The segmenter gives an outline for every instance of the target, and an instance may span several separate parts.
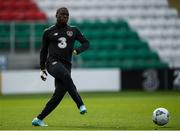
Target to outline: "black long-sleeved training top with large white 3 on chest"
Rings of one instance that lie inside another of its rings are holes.
[[[47,60],[62,61],[71,65],[74,43],[81,43],[75,50],[81,53],[89,48],[89,41],[81,34],[77,27],[53,25],[45,30],[40,51],[40,68],[45,69]]]

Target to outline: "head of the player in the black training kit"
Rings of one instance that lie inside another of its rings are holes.
[[[61,7],[56,11],[56,19],[58,24],[65,25],[69,19],[69,11],[66,7]]]

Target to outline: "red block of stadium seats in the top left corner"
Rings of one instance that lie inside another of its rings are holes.
[[[0,0],[0,21],[45,21],[46,15],[31,0]]]

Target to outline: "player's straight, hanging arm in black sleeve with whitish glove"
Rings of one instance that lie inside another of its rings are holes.
[[[47,77],[45,63],[48,55],[48,47],[49,47],[48,30],[46,30],[43,33],[42,46],[40,51],[40,69],[41,69],[40,77],[43,81],[45,81]]]

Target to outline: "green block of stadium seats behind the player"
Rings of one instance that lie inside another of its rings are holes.
[[[29,49],[34,38],[35,50],[39,50],[43,32],[50,25],[48,22],[15,23],[15,48]],[[90,49],[80,55],[81,67],[140,69],[168,66],[124,20],[71,21],[71,25],[79,27],[91,44]],[[10,23],[0,23],[0,38],[4,39],[0,39],[0,50],[9,48],[10,27]]]

